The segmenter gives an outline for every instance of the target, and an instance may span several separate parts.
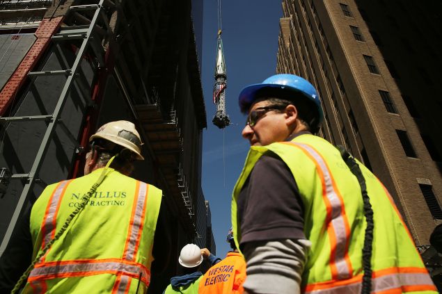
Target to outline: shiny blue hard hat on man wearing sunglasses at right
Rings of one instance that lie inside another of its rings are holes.
[[[281,93],[281,91],[285,92],[283,99],[292,100],[295,103],[298,99],[310,101],[308,105],[312,106],[313,111],[315,111],[314,117],[316,118],[315,125],[311,126],[312,129],[319,128],[322,120],[324,120],[321,101],[315,87],[306,79],[301,78],[301,76],[295,76],[294,74],[275,74],[265,79],[262,83],[248,85],[242,89],[238,99],[239,108],[241,108],[242,113],[246,113],[253,102],[262,97],[262,95],[259,95],[262,90],[267,90],[265,92],[266,95],[271,95],[272,90],[276,93]],[[278,98],[278,94],[276,93],[276,98]]]

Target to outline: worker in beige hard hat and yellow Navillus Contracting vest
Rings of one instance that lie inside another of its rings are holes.
[[[22,293],[148,288],[161,190],[129,177],[133,162],[144,159],[139,133],[120,120],[101,126],[89,142],[84,177],[47,186],[33,204],[33,263],[13,293],[22,281]]]

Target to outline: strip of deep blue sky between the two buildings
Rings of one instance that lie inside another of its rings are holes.
[[[248,142],[241,136],[246,117],[239,112],[238,95],[244,86],[260,83],[276,72],[281,1],[221,0],[222,38],[228,86],[226,109],[232,123],[221,130],[212,124],[216,107],[212,102],[217,0],[204,1],[203,60],[201,80],[207,112],[203,131],[203,191],[212,210],[216,255],[230,249],[226,235],[230,228],[230,199],[242,170]]]

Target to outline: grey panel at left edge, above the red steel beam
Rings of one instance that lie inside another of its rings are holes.
[[[30,33],[0,35],[0,89],[22,62],[35,40],[35,35]]]

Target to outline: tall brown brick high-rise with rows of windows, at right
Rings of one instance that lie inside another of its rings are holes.
[[[440,1],[284,0],[278,73],[312,82],[319,133],[390,191],[418,246],[442,221]]]

